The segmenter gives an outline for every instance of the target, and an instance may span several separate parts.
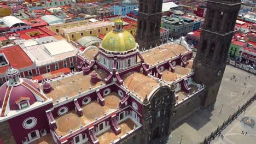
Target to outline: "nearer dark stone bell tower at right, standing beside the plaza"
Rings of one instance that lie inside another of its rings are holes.
[[[200,44],[194,59],[193,81],[206,86],[202,106],[213,106],[222,81],[241,0],[209,0]]]

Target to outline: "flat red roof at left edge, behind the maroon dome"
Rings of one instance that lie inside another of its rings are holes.
[[[30,67],[33,64],[30,57],[27,56],[27,54],[21,49],[19,45],[0,49],[0,53],[4,53],[10,65],[12,67],[16,67],[17,69]],[[9,65],[0,67],[0,73],[5,73],[8,68]]]

